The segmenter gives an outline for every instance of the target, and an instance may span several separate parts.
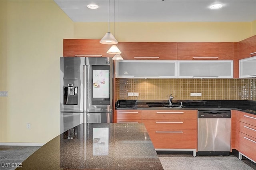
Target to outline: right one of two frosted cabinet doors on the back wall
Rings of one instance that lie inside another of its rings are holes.
[[[179,60],[178,78],[233,78],[233,60]]]

